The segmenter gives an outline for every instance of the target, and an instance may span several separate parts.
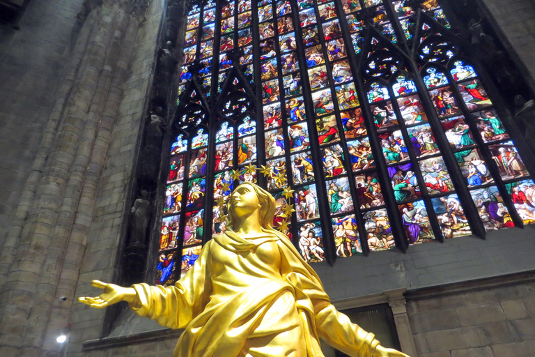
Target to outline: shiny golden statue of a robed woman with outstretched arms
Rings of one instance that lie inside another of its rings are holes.
[[[350,356],[408,357],[336,311],[318,275],[272,228],[269,192],[242,183],[227,207],[225,233],[174,286],[93,280],[104,293],[79,301],[97,308],[127,301],[140,316],[185,328],[175,357],[323,357],[320,337]]]

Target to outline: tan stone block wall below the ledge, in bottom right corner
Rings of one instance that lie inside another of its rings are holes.
[[[419,357],[532,357],[535,282],[408,301]]]

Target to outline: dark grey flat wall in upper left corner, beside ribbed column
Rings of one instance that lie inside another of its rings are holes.
[[[25,190],[79,31],[82,0],[32,1],[0,26],[0,250]]]

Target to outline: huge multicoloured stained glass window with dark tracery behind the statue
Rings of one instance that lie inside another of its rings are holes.
[[[310,262],[535,222],[522,153],[439,1],[193,3],[161,284],[226,229],[244,181],[272,193],[274,227]]]

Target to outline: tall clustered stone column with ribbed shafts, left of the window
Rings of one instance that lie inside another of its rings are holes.
[[[84,3],[85,23],[0,256],[0,356],[59,353],[55,336],[68,324],[146,7],[141,0]]]

